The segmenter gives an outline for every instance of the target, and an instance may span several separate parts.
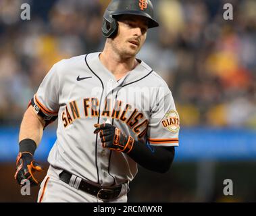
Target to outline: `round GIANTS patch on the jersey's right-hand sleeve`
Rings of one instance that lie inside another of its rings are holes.
[[[161,124],[165,130],[176,133],[180,130],[180,117],[176,110],[170,110],[165,114]]]

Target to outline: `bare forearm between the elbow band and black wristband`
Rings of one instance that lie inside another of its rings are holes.
[[[20,126],[19,142],[24,139],[31,139],[38,146],[43,136],[45,122],[36,113],[32,107],[28,107],[24,113],[22,124]]]

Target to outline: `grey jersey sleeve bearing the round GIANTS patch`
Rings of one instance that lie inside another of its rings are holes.
[[[149,120],[147,139],[153,146],[178,146],[180,118],[172,92],[154,103]]]

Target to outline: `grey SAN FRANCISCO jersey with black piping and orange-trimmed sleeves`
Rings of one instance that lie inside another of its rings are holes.
[[[93,133],[94,124],[109,119],[127,136],[151,148],[178,146],[180,122],[168,85],[146,63],[140,61],[127,76],[116,80],[99,54],[53,65],[34,103],[47,117],[58,116],[49,163],[84,180],[114,186],[130,182],[137,165],[125,153],[103,148],[99,135]]]

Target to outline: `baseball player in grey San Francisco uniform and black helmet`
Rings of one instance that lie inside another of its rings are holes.
[[[148,28],[157,26],[151,1],[113,0],[103,17],[103,51],[59,61],[45,76],[20,126],[15,174],[19,184],[39,184],[33,155],[57,119],[38,202],[127,202],[137,164],[168,171],[179,116],[165,81],[136,59]]]

